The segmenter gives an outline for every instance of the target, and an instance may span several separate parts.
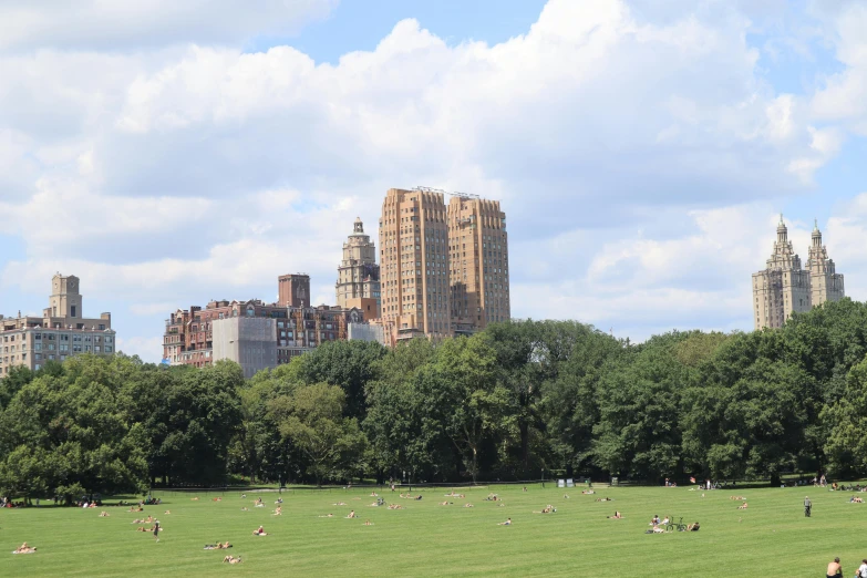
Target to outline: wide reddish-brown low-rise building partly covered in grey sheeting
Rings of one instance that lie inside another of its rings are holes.
[[[297,299],[299,303],[309,299],[307,276],[281,276],[278,286],[281,301],[283,297],[286,301]],[[240,318],[245,321],[237,321]],[[236,321],[221,323],[225,320]],[[163,336],[163,359],[171,365],[197,368],[210,365],[216,359],[228,359],[241,367],[246,364],[250,371],[255,368],[259,371],[288,363],[326,341],[347,340],[348,324],[363,321],[364,312],[358,308],[287,306],[258,299],[211,301],[204,309],[193,306],[169,314]],[[273,357],[271,347],[262,344],[271,338]]]

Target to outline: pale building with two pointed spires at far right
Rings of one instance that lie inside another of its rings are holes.
[[[845,296],[843,275],[822,245],[818,224],[813,229],[807,267],[788,240],[788,229],[780,216],[774,250],[764,270],[753,273],[753,314],[755,329],[780,328],[793,312],[809,311],[826,301]]]

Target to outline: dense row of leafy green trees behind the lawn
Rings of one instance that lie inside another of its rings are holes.
[[[351,478],[658,481],[867,471],[867,306],[641,344],[513,321],[394,350],[333,342],[245,380],[79,357],[0,381],[0,492]]]

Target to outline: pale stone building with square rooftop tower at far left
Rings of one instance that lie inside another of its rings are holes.
[[[39,370],[47,361],[65,361],[81,353],[113,354],[116,334],[112,314],[83,317],[80,279],[56,273],[51,279],[49,307],[41,317],[0,316],[0,378],[23,365]]]

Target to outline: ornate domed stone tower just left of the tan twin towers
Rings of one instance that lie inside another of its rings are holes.
[[[376,246],[364,235],[364,224],[355,219],[352,235],[343,244],[343,260],[338,267],[336,286],[338,307],[364,311],[365,319],[380,317],[380,266]]]

